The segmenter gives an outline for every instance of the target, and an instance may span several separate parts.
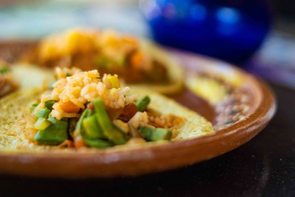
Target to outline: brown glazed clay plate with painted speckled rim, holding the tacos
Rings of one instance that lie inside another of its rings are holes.
[[[34,43],[2,41],[0,57],[15,62]],[[186,83],[189,85],[183,92],[169,96],[204,115],[213,123],[216,132],[125,152],[0,152],[0,173],[82,178],[130,176],[169,170],[201,162],[241,146],[256,136],[273,117],[275,98],[262,80],[219,60],[173,49],[169,51],[186,69]],[[219,99],[218,95],[210,97],[210,91],[195,88],[198,86],[193,82],[213,87],[213,94],[223,89],[224,96]],[[201,96],[196,96],[192,91]]]

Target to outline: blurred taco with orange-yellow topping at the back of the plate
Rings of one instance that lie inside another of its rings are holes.
[[[46,67],[78,67],[84,71],[118,74],[126,84],[139,84],[161,93],[183,87],[184,72],[153,43],[112,30],[72,29],[37,44],[26,61]]]

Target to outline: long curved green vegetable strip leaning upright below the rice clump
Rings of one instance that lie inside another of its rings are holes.
[[[124,139],[123,133],[113,126],[108,114],[106,113],[102,99],[96,98],[93,103],[97,113],[97,122],[99,123],[104,135],[115,144],[125,144],[126,140]]]

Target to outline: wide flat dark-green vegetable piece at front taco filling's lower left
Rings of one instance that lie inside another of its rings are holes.
[[[48,118],[52,122],[50,126],[44,130],[39,130],[34,139],[39,144],[57,145],[68,139],[68,123],[57,120],[52,116]]]

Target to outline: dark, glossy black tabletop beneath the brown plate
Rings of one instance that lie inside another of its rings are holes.
[[[116,179],[1,175],[0,196],[295,196],[295,91],[271,85],[278,111],[254,139],[177,170]]]

